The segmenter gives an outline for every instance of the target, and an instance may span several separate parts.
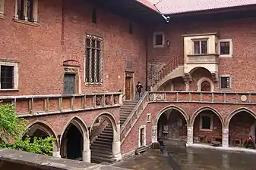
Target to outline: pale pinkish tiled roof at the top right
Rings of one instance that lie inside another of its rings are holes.
[[[150,1],[151,3],[156,2],[156,0]],[[160,0],[155,4],[162,14],[179,14],[243,5],[256,5],[256,0]]]

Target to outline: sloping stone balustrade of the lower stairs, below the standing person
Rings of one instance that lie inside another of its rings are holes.
[[[149,92],[146,91],[141,97],[141,100],[139,100],[139,102],[136,104],[134,109],[131,111],[130,115],[125,120],[124,124],[121,126],[121,134],[120,134],[121,144],[123,141],[125,141],[125,138],[131,131],[131,128],[133,128],[133,126],[137,122],[137,119],[139,119],[139,117],[141,116],[141,113],[143,112],[145,107],[147,107],[148,99],[149,99]]]

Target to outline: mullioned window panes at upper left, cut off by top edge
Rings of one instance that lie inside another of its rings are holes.
[[[37,1],[38,0],[16,0],[15,19],[37,22]]]

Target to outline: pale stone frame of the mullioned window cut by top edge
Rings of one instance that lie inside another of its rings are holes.
[[[38,0],[33,0],[33,21],[28,20],[27,17],[27,1],[24,1],[24,20],[20,19],[18,16],[18,1],[15,0],[15,15],[14,15],[14,21],[19,23],[38,23]]]

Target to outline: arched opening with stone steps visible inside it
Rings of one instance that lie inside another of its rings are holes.
[[[90,127],[90,162],[115,162],[113,144],[119,135],[116,130],[115,120],[108,114],[102,114],[93,121]]]

